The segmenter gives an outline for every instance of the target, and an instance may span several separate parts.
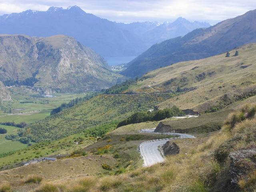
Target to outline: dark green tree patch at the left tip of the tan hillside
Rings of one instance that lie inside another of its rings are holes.
[[[136,78],[135,80],[126,80],[121,84],[116,84],[106,90],[103,90],[103,92],[104,94],[120,94],[123,91],[127,90],[129,86],[136,85],[137,82],[138,82],[138,78]]]

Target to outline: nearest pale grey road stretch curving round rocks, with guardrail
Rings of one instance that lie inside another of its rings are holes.
[[[143,129],[141,132],[153,133],[155,129]],[[160,133],[155,133],[160,134]],[[174,133],[164,133],[166,135]],[[195,138],[192,135],[175,133],[174,135],[180,136],[179,138]],[[165,144],[168,140],[174,140],[177,138],[168,138],[164,140],[152,140],[148,142],[143,142],[140,144],[140,154],[144,160],[143,166],[152,166],[153,164],[160,163],[164,161],[164,157],[158,150],[158,146]]]

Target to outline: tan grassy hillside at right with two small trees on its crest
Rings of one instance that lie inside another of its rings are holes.
[[[214,112],[232,102],[255,95],[256,44],[238,49],[239,55],[225,54],[202,60],[180,62],[145,74],[131,87],[134,92],[181,92],[160,104],[198,112]],[[214,109],[213,109],[214,107]]]

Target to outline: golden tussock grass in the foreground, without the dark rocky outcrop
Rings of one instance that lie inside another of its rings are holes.
[[[241,110],[238,113],[244,112]],[[236,119],[232,128],[227,123],[218,134],[197,147],[188,149],[187,153],[181,152],[176,156],[168,156],[166,161],[151,167],[138,168],[132,172],[118,176],[104,176],[100,179],[84,178],[71,180],[66,184],[64,192],[82,191],[109,191],[109,192],[208,192],[227,168],[226,158],[220,162],[218,154],[222,150],[228,152],[255,145],[256,118]],[[230,122],[230,121],[228,121]],[[239,137],[237,137],[239,136]],[[254,137],[254,138],[253,138]],[[234,138],[239,138],[234,142]],[[189,140],[188,142],[192,142]],[[248,172],[246,178],[239,181],[240,189],[253,192],[256,181],[256,172]],[[88,182],[88,180],[90,180]],[[222,182],[228,182],[223,180]],[[93,183],[93,184],[92,184]],[[68,190],[68,186],[75,186]],[[222,189],[219,189],[221,191]],[[218,191],[218,190],[217,190]]]

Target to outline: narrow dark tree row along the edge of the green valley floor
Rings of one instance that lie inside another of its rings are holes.
[[[87,94],[87,95],[84,96],[84,97],[79,97],[79,98],[77,97],[77,98],[71,100],[71,101],[68,102],[68,103],[62,103],[59,107],[57,107],[57,108],[55,108],[55,109],[52,110],[51,115],[57,114],[57,113],[61,112],[61,111],[64,110],[64,109],[67,109],[67,108],[73,107],[73,106],[75,106],[75,105],[78,105],[78,104],[80,104],[80,103],[83,102],[83,101],[87,101],[87,100],[89,100],[90,98],[94,97],[95,95],[96,95],[96,94],[91,94],[91,95],[88,95],[88,94]]]

